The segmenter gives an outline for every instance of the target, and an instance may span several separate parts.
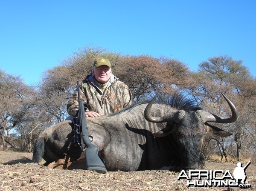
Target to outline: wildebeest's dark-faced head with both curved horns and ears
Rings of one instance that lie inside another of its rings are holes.
[[[222,95],[232,112],[229,118],[219,117],[196,107],[190,110],[176,110],[166,116],[152,117],[150,109],[156,97],[145,108],[144,117],[146,120],[152,123],[167,122],[165,128],[153,133],[152,136],[165,137],[168,135],[170,137],[170,141],[173,142],[172,145],[175,145],[174,149],[180,161],[178,164],[180,168],[196,169],[204,164],[200,152],[206,132],[220,137],[227,137],[232,134],[208,123],[233,123],[238,119],[239,114],[236,107],[224,94]]]

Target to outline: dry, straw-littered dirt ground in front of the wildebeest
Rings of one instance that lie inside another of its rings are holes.
[[[246,168],[250,188],[187,186],[186,179],[177,180],[179,172],[131,171],[98,174],[87,170],[59,170],[32,163],[32,154],[0,151],[0,191],[252,191],[256,190],[256,166]],[[229,170],[236,162],[207,161],[205,170]]]

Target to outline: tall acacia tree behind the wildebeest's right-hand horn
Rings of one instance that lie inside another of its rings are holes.
[[[221,156],[227,160],[227,149],[229,154],[232,153],[233,145],[237,145],[237,157],[239,158],[239,150],[241,149],[240,135],[248,125],[244,126],[244,109],[242,107],[254,107],[255,103],[244,99],[243,92],[248,92],[249,89],[244,90],[242,85],[245,82],[253,80],[250,76],[248,69],[242,65],[241,60],[233,60],[229,56],[219,56],[209,58],[207,61],[200,63],[198,73],[193,75],[194,81],[189,85],[188,89],[190,93],[195,97],[198,103],[204,106],[208,111],[219,114],[221,116],[228,116],[230,111],[227,110],[227,104],[224,103],[224,99],[221,98],[221,93],[224,93],[229,97],[240,111],[239,120],[229,125],[218,124],[220,128],[233,132],[235,135],[232,137],[215,138],[215,144],[218,145]],[[255,84],[255,80],[254,84]],[[251,98],[255,98],[254,91],[249,91]],[[249,109],[249,108],[248,108]],[[207,137],[210,139],[209,137]],[[245,139],[243,139],[244,141]],[[206,140],[206,143],[214,143]],[[229,143],[233,144],[229,144]],[[245,149],[246,150],[246,149]]]

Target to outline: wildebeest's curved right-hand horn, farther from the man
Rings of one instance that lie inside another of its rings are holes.
[[[225,100],[227,101],[228,105],[230,106],[231,117],[223,118],[223,117],[219,117],[218,115],[215,115],[215,114],[210,114],[206,111],[200,111],[201,112],[200,115],[201,115],[204,123],[206,123],[206,122],[233,123],[238,119],[239,114],[238,114],[238,111],[237,111],[235,105],[224,94],[222,94],[222,95],[225,98]]]

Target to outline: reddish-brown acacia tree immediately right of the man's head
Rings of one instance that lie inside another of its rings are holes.
[[[163,87],[159,74],[165,75],[163,67],[149,56],[126,57],[115,68],[115,75],[129,86],[137,101]]]

